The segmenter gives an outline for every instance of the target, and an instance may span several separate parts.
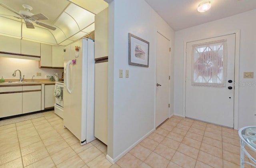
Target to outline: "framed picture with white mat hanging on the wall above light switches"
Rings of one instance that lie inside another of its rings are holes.
[[[129,33],[129,65],[148,67],[149,42]]]

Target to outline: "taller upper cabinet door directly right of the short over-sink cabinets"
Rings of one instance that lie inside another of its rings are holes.
[[[52,45],[41,43],[40,67],[52,67]]]

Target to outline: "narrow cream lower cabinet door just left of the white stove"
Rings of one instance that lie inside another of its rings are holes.
[[[55,85],[44,85],[44,109],[54,107],[54,86]]]

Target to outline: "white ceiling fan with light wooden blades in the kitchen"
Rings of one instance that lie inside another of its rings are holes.
[[[50,26],[48,24],[44,24],[44,23],[41,23],[41,22],[37,22],[37,20],[48,20],[48,18],[46,16],[44,16],[44,14],[35,14],[35,15],[32,14],[30,11],[33,8],[29,5],[22,5],[25,10],[20,10],[19,12],[10,8],[9,6],[6,6],[5,4],[0,4],[0,6],[14,12],[17,15],[19,15],[20,17],[18,17],[18,16],[13,16],[13,17],[18,18],[18,19],[23,19],[25,21],[25,24],[26,24],[27,28],[34,29],[35,27],[32,23],[32,22],[34,22],[34,23],[36,23],[40,26],[43,26],[45,28],[48,28],[50,30],[56,30],[56,28],[54,28],[53,26]],[[4,14],[2,14],[2,15],[4,15]]]

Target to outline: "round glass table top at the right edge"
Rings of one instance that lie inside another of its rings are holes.
[[[246,142],[256,148],[256,126],[244,128],[241,134]]]

